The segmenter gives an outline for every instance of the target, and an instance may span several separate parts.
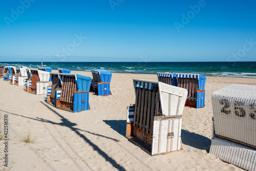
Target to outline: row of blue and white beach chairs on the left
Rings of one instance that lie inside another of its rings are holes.
[[[56,108],[80,112],[89,110],[90,89],[98,96],[111,95],[112,73],[106,70],[92,70],[91,77],[71,74],[71,70],[59,68],[52,73],[51,68],[0,67],[4,80],[17,86],[25,86],[25,91],[36,95],[47,94],[47,102]],[[3,72],[2,72],[3,71]],[[49,86],[49,82],[52,85]],[[92,82],[94,82],[92,84]]]

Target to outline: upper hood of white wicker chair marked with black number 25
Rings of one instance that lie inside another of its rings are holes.
[[[256,147],[256,87],[232,84],[212,93],[215,134]]]

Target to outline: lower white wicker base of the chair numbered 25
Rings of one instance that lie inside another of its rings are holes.
[[[211,140],[210,153],[221,160],[246,170],[256,170],[256,149],[214,137]]]

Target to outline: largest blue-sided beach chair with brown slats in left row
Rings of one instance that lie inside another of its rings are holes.
[[[47,102],[70,112],[90,110],[91,77],[78,74],[51,73],[52,86],[47,88]]]

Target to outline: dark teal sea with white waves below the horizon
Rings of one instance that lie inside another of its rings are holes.
[[[0,66],[27,66],[37,68],[41,62],[0,62]],[[115,73],[156,74],[196,73],[204,76],[256,78],[256,62],[43,62],[54,70],[75,71],[105,69]]]

